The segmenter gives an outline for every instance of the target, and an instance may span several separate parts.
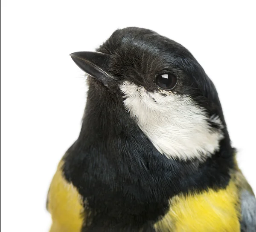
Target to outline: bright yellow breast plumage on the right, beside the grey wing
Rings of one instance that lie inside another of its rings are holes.
[[[238,190],[230,181],[226,189],[175,196],[154,227],[157,232],[240,232],[239,217]]]

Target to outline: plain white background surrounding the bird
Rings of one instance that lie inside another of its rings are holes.
[[[86,100],[69,54],[115,29],[152,29],[189,49],[215,83],[239,165],[256,191],[252,1],[1,1],[1,231],[46,232],[47,190]]]

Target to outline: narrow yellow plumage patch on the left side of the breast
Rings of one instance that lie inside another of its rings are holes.
[[[48,210],[52,215],[50,232],[80,232],[83,223],[81,197],[63,177],[62,165],[63,161],[58,165],[48,194]]]

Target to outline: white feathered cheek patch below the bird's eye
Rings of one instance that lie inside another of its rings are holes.
[[[125,108],[160,153],[168,158],[204,160],[218,151],[224,136],[221,130],[211,129],[209,120],[223,128],[220,118],[209,118],[189,96],[151,93],[127,81],[120,89]]]

